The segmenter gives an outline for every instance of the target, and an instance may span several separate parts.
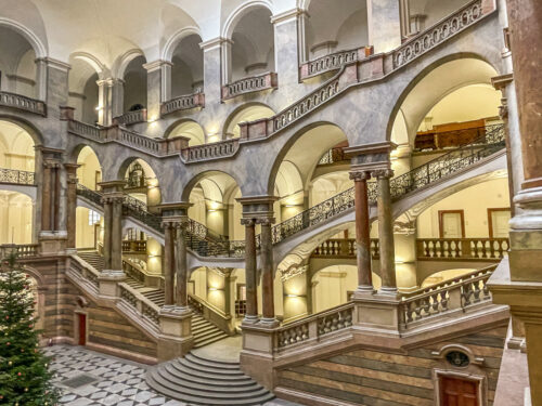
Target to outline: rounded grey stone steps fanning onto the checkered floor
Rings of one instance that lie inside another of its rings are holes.
[[[190,405],[263,405],[274,395],[243,374],[238,363],[189,353],[151,369],[147,384]]]

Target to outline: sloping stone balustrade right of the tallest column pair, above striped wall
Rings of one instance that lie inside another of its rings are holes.
[[[402,327],[490,301],[486,283],[495,269],[496,264],[404,296],[400,304]]]

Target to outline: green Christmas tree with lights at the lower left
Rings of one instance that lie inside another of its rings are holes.
[[[0,264],[0,405],[53,406],[60,392],[38,344],[36,301],[16,253]]]

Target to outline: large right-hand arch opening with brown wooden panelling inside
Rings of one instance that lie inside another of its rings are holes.
[[[437,66],[415,82],[391,126],[391,141],[398,144],[391,154],[396,175],[481,140],[501,123],[501,93],[491,87],[495,75],[483,61],[460,58]]]

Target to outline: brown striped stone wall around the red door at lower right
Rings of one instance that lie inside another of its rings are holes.
[[[400,353],[364,348],[299,363],[278,371],[276,393],[307,405],[431,406],[436,404],[438,375],[444,374],[479,378],[482,398],[487,400],[481,404],[492,405],[506,330],[502,325]],[[451,344],[470,352],[473,359],[478,358],[477,365],[450,365],[440,352]]]

